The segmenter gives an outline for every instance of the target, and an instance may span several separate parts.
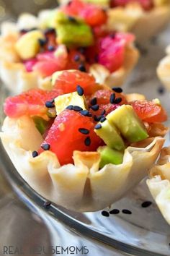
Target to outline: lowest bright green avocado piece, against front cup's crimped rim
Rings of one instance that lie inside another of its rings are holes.
[[[97,148],[97,152],[100,153],[101,161],[99,167],[102,168],[108,163],[121,164],[123,160],[123,152],[109,148],[108,146],[103,146]]]

